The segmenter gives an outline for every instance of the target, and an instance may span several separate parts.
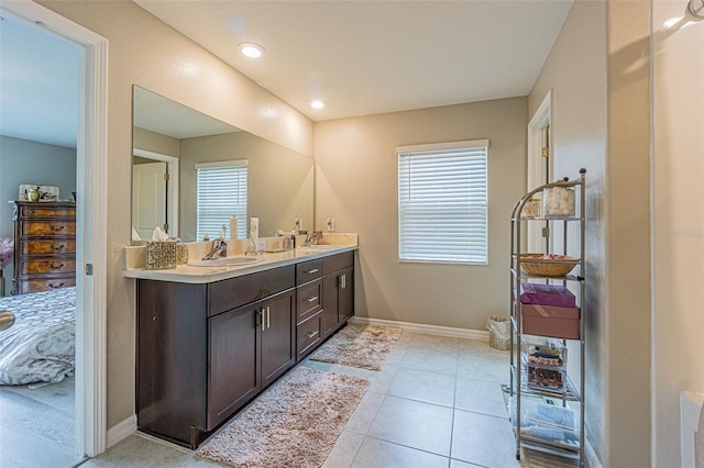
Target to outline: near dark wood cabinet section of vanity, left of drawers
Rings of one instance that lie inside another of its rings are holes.
[[[138,426],[197,447],[296,363],[295,268],[138,282]]]

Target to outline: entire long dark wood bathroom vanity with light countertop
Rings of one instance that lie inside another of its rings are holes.
[[[355,246],[138,280],[141,431],[196,448],[354,313]]]

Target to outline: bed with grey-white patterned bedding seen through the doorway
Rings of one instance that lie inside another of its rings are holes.
[[[0,385],[58,382],[76,365],[76,288],[0,298],[14,325],[0,332]]]

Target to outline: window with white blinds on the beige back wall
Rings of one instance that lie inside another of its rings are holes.
[[[488,264],[488,141],[398,153],[400,261]]]

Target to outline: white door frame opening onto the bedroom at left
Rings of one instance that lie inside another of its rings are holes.
[[[0,0],[0,12],[85,51],[76,147],[76,450],[92,457],[107,441],[108,41],[33,1]]]

